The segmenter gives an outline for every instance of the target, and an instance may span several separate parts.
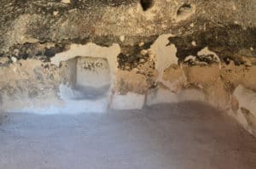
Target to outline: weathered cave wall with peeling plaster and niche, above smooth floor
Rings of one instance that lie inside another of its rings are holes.
[[[256,135],[256,1],[6,0],[1,112],[201,101]]]

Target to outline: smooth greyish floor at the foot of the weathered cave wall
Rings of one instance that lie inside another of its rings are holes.
[[[199,103],[107,114],[6,114],[0,169],[255,169],[256,138]]]

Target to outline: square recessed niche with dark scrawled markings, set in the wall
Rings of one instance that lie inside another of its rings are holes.
[[[111,77],[107,59],[76,57],[68,60],[67,65],[72,99],[100,99],[108,95]]]

